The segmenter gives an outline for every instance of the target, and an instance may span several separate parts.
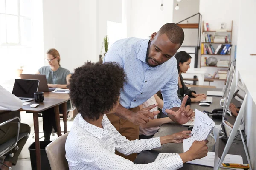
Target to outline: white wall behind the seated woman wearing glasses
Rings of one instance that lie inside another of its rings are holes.
[[[99,61],[107,21],[122,22],[121,0],[44,0],[43,11],[44,53],[56,48],[71,72],[87,60]]]

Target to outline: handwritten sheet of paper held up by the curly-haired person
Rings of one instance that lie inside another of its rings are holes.
[[[203,141],[215,127],[215,123],[207,114],[195,109],[194,127],[191,132],[192,136],[183,140],[183,150],[186,152],[194,141]]]

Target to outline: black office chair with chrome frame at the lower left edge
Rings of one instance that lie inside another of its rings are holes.
[[[17,143],[20,139],[22,139],[25,136],[29,136],[29,133],[20,133],[20,118],[19,117],[14,117],[12,119],[9,119],[3,123],[0,124],[0,127],[3,125],[6,125],[7,123],[10,123],[12,121],[14,121],[15,119],[18,119],[18,128],[17,128],[17,134],[15,137],[9,139],[8,141],[6,141],[5,143],[0,145],[0,157],[8,155],[13,157],[14,153],[11,152],[11,150],[15,149],[18,150],[19,147],[17,146]],[[3,164],[2,162],[0,162],[0,164]],[[4,166],[6,166],[5,164],[3,164]],[[8,166],[6,166],[8,167]],[[12,169],[12,167],[8,167],[9,170]]]

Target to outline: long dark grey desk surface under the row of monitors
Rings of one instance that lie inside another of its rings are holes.
[[[198,93],[206,93],[207,91],[221,91],[221,89],[217,88],[191,88],[194,91],[197,91]],[[212,111],[212,109],[215,108],[220,108],[219,101],[221,100],[221,97],[215,97],[213,96],[213,103],[211,106],[199,106],[198,102],[194,102],[191,105],[192,109],[198,109],[199,111],[207,110],[207,111]],[[228,116],[226,114],[227,121],[229,121],[231,124],[235,122],[235,116]],[[221,119],[214,119],[212,120],[216,124],[221,124]],[[160,127],[157,133],[154,134],[153,137],[159,137],[159,136],[165,136],[165,135],[171,135],[173,133],[177,133],[183,130],[187,130],[186,126],[181,126],[179,124],[175,123],[168,123],[164,124]],[[224,131],[224,130],[223,130]],[[207,144],[208,151],[215,152],[215,140],[212,137],[208,137],[207,140],[209,140],[209,143]],[[221,157],[220,150],[224,150],[226,143],[220,139],[219,141],[219,157]],[[174,144],[174,143],[168,143],[164,144],[161,148],[149,150],[149,151],[142,151],[137,158],[135,159],[134,163],[135,164],[148,164],[151,162],[154,162],[156,159],[158,153],[183,153],[183,144]],[[230,147],[230,150],[228,154],[235,154],[235,155],[242,155],[243,157],[243,162],[247,163],[246,155],[244,152],[244,147],[242,144],[232,144]],[[183,164],[183,167],[181,170],[212,170],[212,167],[206,167],[206,166],[200,166],[200,165],[195,165],[195,164],[188,164],[185,163]]]

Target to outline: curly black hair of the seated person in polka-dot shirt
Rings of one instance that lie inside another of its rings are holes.
[[[70,99],[83,118],[98,120],[117,103],[125,82],[125,71],[116,62],[87,62],[70,78]]]

